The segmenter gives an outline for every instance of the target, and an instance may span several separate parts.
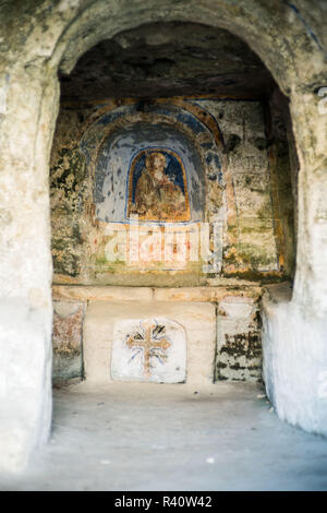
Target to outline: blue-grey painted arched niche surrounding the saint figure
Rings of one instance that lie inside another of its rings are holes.
[[[180,159],[180,167],[184,169],[186,182],[182,192],[186,203],[190,203],[190,216],[185,220],[203,220],[205,174],[194,144],[171,126],[146,122],[137,122],[116,130],[106,138],[99,150],[94,188],[96,217],[99,220],[130,222],[129,202],[133,202],[133,198],[129,198],[129,193],[134,192],[131,191],[131,186],[137,187],[135,158],[141,160],[143,159],[142,152],[150,154],[154,151],[160,152],[166,159],[171,154],[171,162],[173,158]],[[169,172],[169,164],[166,164],[166,174]],[[132,174],[134,177],[131,176]],[[175,177],[172,182],[175,183],[178,179],[179,177]],[[152,220],[150,217],[148,220]],[[173,222],[172,218],[170,220]]]

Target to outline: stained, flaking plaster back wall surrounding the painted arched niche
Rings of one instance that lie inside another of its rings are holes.
[[[218,276],[275,282],[292,275],[293,203],[284,142],[276,140],[271,144],[265,139],[258,102],[210,100],[206,108],[219,119],[226,141],[237,141],[226,146],[225,160],[218,148],[208,142],[202,154],[206,174],[204,218],[210,220],[226,208],[226,174],[230,175],[234,191],[235,218],[230,224],[225,220],[222,267]],[[110,261],[106,256],[108,226],[97,220],[94,204],[94,164],[105,136],[105,123],[97,128],[94,124],[100,119],[97,109],[102,112],[100,106],[62,108],[58,120],[50,167],[55,283],[135,286],[209,283],[217,273],[204,273],[205,262],[201,259],[169,267],[161,261],[131,263],[120,258]],[[152,116],[155,120],[156,115]],[[92,147],[88,160],[80,148],[86,130]],[[207,163],[206,152],[210,154]],[[215,152],[220,163],[225,162],[222,167],[215,165]],[[272,198],[274,187],[277,204]],[[213,239],[209,247],[214,249]]]

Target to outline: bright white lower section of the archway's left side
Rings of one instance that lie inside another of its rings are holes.
[[[0,472],[26,466],[46,442],[51,421],[48,310],[0,300]]]

